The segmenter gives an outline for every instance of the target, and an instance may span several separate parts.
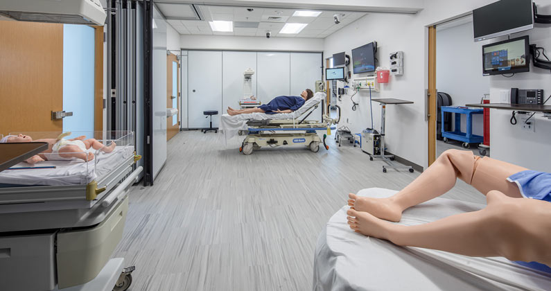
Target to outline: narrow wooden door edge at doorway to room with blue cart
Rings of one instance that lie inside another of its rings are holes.
[[[436,26],[428,28],[428,166],[436,160]]]

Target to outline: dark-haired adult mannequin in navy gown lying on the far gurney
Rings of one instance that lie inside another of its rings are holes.
[[[256,108],[247,108],[247,109],[233,109],[227,107],[227,114],[234,116],[238,114],[247,114],[247,113],[265,113],[265,114],[277,114],[277,113],[291,113],[299,109],[306,100],[312,98],[314,92],[311,89],[306,89],[302,91],[299,96],[277,96],[272,99],[270,103],[260,105]]]

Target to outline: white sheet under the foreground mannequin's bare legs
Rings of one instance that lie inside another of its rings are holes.
[[[358,195],[389,197],[369,188]],[[484,205],[436,198],[404,211],[400,224],[421,224]],[[551,290],[551,275],[505,258],[473,258],[398,247],[351,231],[344,206],[317,240],[313,290]]]

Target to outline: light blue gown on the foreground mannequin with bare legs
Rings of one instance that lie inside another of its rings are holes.
[[[523,170],[507,178],[518,186],[523,197],[551,202],[551,173]],[[538,262],[516,261],[519,265],[551,273],[551,267]]]

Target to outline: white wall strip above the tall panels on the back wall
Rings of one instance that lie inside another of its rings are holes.
[[[188,49],[237,51],[323,51],[324,39],[296,37],[241,37],[227,35],[180,35],[180,46]]]

